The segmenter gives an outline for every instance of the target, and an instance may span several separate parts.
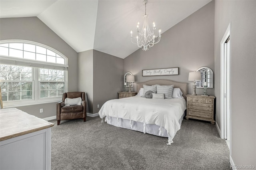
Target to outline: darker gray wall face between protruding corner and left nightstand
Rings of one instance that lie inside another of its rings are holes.
[[[93,113],[122,91],[124,59],[93,50]],[[97,108],[97,105],[100,105]]]

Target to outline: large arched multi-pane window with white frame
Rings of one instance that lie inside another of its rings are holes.
[[[46,45],[0,41],[0,86],[4,107],[59,101],[67,90],[68,59]]]

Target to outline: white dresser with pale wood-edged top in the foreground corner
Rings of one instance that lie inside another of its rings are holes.
[[[16,108],[0,109],[0,169],[50,170],[52,126]]]

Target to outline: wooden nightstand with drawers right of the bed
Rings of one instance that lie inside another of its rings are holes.
[[[214,121],[214,96],[186,95],[187,115],[186,119],[198,119],[203,121]]]

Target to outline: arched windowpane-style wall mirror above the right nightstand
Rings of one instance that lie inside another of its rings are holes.
[[[209,67],[200,67],[196,71],[201,73],[201,80],[196,81],[197,88],[204,88],[204,82],[207,82],[207,88],[213,88],[213,71]]]

